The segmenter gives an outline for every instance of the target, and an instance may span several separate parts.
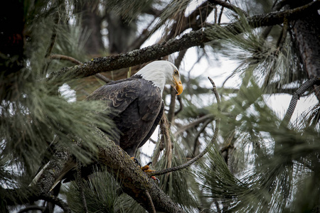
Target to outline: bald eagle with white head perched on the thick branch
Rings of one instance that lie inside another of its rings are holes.
[[[143,67],[132,77],[105,84],[87,97],[90,100],[105,101],[113,112],[110,119],[115,128],[113,140],[132,157],[137,148],[141,147],[150,138],[161,116],[164,114],[162,92],[164,85],[171,84],[177,94],[181,94],[183,87],[177,67],[171,62],[154,61]],[[102,131],[104,131],[102,129]],[[108,133],[107,131],[105,131]],[[41,163],[36,178],[31,185],[38,181],[43,168],[48,163]],[[46,164],[46,165],[45,165]],[[68,182],[74,179],[75,162],[63,169],[53,188],[65,179]],[[92,168],[84,168],[83,175],[90,175]]]

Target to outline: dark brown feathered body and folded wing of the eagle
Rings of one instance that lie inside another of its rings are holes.
[[[164,112],[160,88],[139,76],[105,84],[87,100],[106,101],[117,126],[114,142],[132,156],[150,138]]]

